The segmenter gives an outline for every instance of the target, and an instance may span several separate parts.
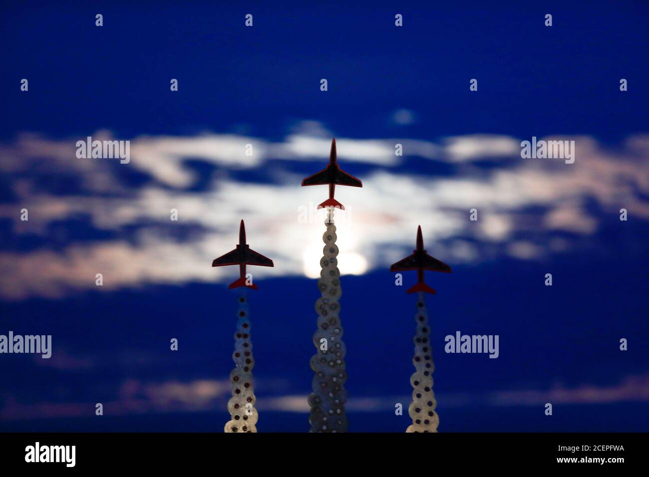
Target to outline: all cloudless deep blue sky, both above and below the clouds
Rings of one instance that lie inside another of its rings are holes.
[[[104,27],[95,27],[96,13],[103,14]],[[251,29],[243,27],[247,13],[254,15]],[[395,13],[404,15],[404,27],[394,26]],[[546,13],[553,15],[551,28],[543,25]],[[108,129],[121,139],[231,132],[281,141],[295,123],[312,119],[347,138],[563,134],[615,147],[649,132],[648,14],[639,1],[488,8],[21,2],[1,11],[0,140],[10,144],[25,132],[84,138]],[[19,91],[22,78],[29,79],[29,93]],[[171,78],[179,81],[178,93],[169,92]],[[319,90],[321,78],[328,79],[326,93]],[[469,91],[472,78],[478,79],[477,93]],[[628,92],[618,90],[620,78],[628,79]],[[395,125],[390,118],[399,109],[412,111],[417,121]],[[204,177],[218,172],[213,165],[191,167]],[[315,163],[291,167],[304,175],[317,170]],[[362,178],[372,168],[352,163],[347,170]],[[406,158],[399,172],[459,174],[448,164],[418,158]],[[10,186],[21,177],[37,178],[38,190],[52,195],[83,193],[73,174],[55,181],[40,174],[3,177],[3,204],[18,207]],[[125,184],[151,184],[140,172],[120,169],[119,175]],[[270,180],[263,168],[231,177]],[[199,183],[193,190],[207,187]],[[452,275],[430,277],[438,290],[429,305],[440,430],[648,430],[647,400],[567,404],[548,419],[542,406],[484,402],[499,391],[608,387],[649,372],[649,221],[631,219],[620,227],[617,215],[598,204],[587,200],[585,207],[599,228],[589,236],[567,236],[570,252],[537,261],[450,263]],[[132,240],[136,232],[96,230],[77,216],[51,223],[44,236],[25,235],[14,232],[10,219],[0,220],[3,248],[19,254],[61,251],[71,242]],[[553,287],[543,286],[548,271]],[[316,298],[315,280],[295,276],[264,280],[251,297],[260,402],[309,392]],[[101,402],[114,399],[125,380],[220,380],[232,367],[236,303],[222,283],[80,291],[0,306],[0,333],[53,334],[67,354],[93,363],[53,369],[2,355],[0,409],[8,400]],[[343,277],[350,397],[410,395],[414,311],[413,297],[394,286],[387,270]],[[444,336],[456,330],[498,334],[500,358],[445,354]],[[171,358],[169,336],[180,341]],[[620,337],[629,339],[628,352],[618,350]],[[460,395],[469,402],[454,402]],[[151,413],[106,415],[97,422],[93,408],[89,413],[87,419],[0,421],[0,429],[220,431],[227,420],[224,402],[204,419]],[[260,411],[260,430],[308,428],[304,414],[282,416]],[[402,431],[409,420],[389,409],[354,416],[350,430],[356,431]]]

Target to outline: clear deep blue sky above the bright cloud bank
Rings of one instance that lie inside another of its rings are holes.
[[[616,140],[646,130],[646,5],[564,4],[5,7],[2,134],[254,123],[272,138],[291,118],[317,117],[372,137],[396,108],[426,114],[410,133],[425,138],[532,131]],[[88,20],[97,12],[104,27]],[[241,28],[247,12],[252,29]],[[546,13],[552,27],[539,20]],[[23,77],[29,96],[14,87]],[[170,96],[172,77],[180,88]],[[625,95],[613,88],[620,77],[630,81]],[[484,94],[469,92],[471,78]]]

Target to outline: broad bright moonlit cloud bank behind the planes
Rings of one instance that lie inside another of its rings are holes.
[[[52,223],[84,216],[111,237],[71,240],[62,249],[0,252],[0,297],[64,297],[95,287],[97,273],[104,276],[104,289],[232,281],[232,270],[210,264],[234,248],[241,218],[251,247],[275,261],[274,268],[251,267],[255,278],[317,276],[324,211],[315,206],[326,188],[300,188],[303,174],[292,167],[295,160],[315,162],[314,170],[323,167],[330,145],[326,133],[310,121],[276,143],[231,134],[143,136],[133,140],[129,164],[77,159],[78,138],[54,141],[24,134],[0,145],[6,158],[0,169],[15,178],[16,200],[0,204],[0,217],[10,219],[12,234],[47,240]],[[95,137],[110,138],[110,133],[100,131]],[[521,159],[519,141],[508,136],[398,140],[407,155],[457,162],[455,175],[435,177],[395,167],[401,159],[394,155],[397,140],[340,138],[341,158],[369,167],[362,189],[336,190],[336,199],[347,206],[336,212],[337,226],[345,230],[337,241],[341,273],[361,274],[402,258],[412,249],[417,225],[434,256],[458,264],[498,256],[537,260],[569,250],[570,240],[557,233],[584,236],[598,230],[600,218],[585,208],[587,202],[605,214],[617,216],[624,207],[633,217],[649,219],[649,135],[628,138],[615,149],[587,136],[574,140],[574,164]],[[247,143],[253,145],[253,156],[245,156]],[[507,154],[518,157],[489,169],[466,164]],[[223,174],[206,188],[192,190],[197,178],[186,165],[189,158],[217,164]],[[228,177],[228,171],[258,169],[271,158],[286,160],[272,184]],[[120,174],[132,169],[152,180],[129,185]],[[78,178],[82,190],[48,192],[36,182],[36,174],[49,182]],[[29,210],[29,221],[19,219],[21,208]],[[478,221],[469,220],[472,208],[478,210]],[[178,210],[178,221],[170,220],[171,209]],[[194,232],[178,238],[178,231],[188,227]],[[134,232],[127,237],[125,230]]]

